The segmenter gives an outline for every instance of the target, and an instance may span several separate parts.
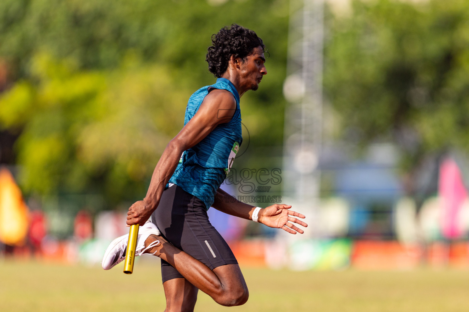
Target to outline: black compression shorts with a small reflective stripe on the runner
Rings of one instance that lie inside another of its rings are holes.
[[[210,269],[238,263],[225,239],[210,224],[204,202],[177,185],[165,189],[151,221],[171,244]],[[165,283],[183,276],[161,260],[161,277]]]

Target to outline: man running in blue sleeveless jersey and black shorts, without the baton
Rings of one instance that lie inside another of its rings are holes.
[[[242,143],[239,98],[257,90],[267,74],[264,48],[254,31],[237,24],[212,36],[206,60],[218,79],[191,95],[184,127],[166,145],[147,195],[129,208],[127,225],[142,225],[136,254],[161,258],[166,312],[193,311],[199,289],[220,305],[242,305],[248,300],[238,262],[208,220],[210,206],[292,234],[303,233],[294,223],[307,226],[291,217],[304,218],[288,210],[289,205],[262,209],[232,203],[232,197],[219,189]],[[104,269],[125,258],[127,240],[124,235],[109,245]]]

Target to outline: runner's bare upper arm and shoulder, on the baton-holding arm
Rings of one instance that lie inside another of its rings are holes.
[[[204,98],[197,113],[173,139],[183,150],[199,143],[220,123],[227,123],[234,116],[236,100],[227,90],[215,89]]]

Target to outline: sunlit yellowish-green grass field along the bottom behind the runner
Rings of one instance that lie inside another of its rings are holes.
[[[159,262],[122,268],[0,260],[2,312],[163,311]],[[222,307],[199,292],[196,311],[469,311],[469,272],[456,270],[292,272],[242,268],[249,301]]]

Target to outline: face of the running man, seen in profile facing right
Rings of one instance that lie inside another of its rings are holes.
[[[241,78],[244,82],[243,84],[251,90],[256,91],[262,77],[267,74],[264,62],[264,52],[262,51],[262,47],[258,46],[254,48],[252,53],[241,63]]]

